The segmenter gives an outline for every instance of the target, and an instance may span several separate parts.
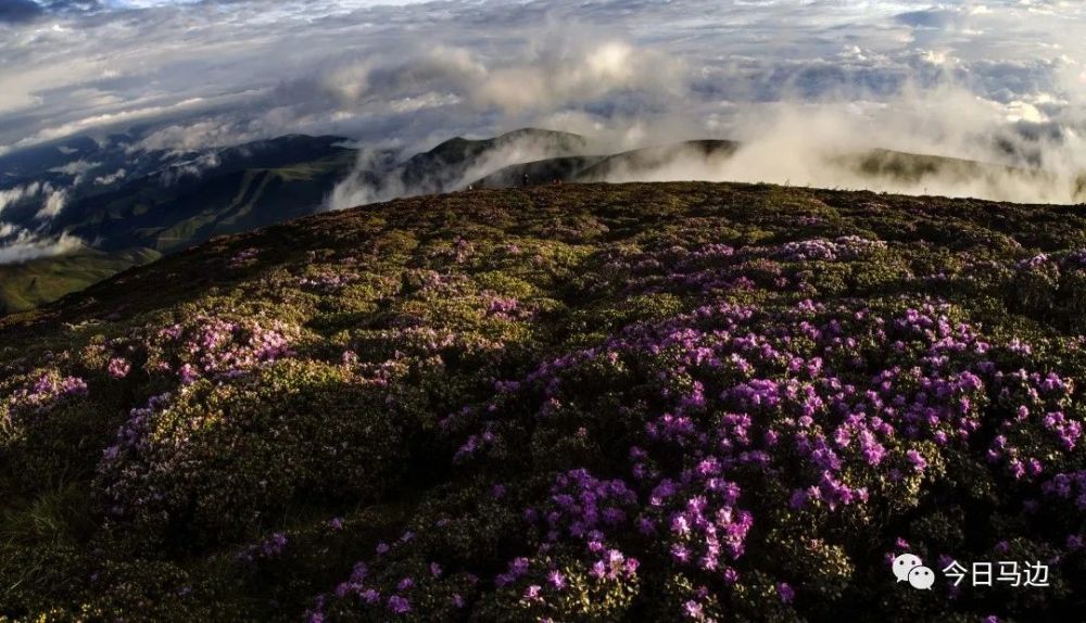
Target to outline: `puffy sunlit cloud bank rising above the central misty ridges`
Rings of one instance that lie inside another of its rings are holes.
[[[431,46],[406,58],[365,58],[330,68],[319,87],[344,106],[386,114],[435,107],[480,115],[538,114],[569,106],[614,105],[635,94],[653,105],[687,92],[681,60],[585,28],[536,34],[501,55]]]

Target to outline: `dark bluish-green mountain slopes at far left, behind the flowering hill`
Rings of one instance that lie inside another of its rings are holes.
[[[164,253],[316,212],[354,166],[339,137],[287,136],[194,152],[128,153],[121,138],[73,140],[0,157],[0,313],[33,308]],[[59,212],[42,206],[58,195]],[[64,236],[63,255],[36,253]],[[77,238],[72,238],[77,237]]]

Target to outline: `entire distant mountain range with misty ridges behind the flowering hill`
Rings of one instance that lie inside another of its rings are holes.
[[[27,240],[35,249],[50,249],[48,242],[62,236],[83,241],[63,255],[9,254],[20,263],[0,265],[0,314],[54,301],[215,236],[314,214],[329,207],[337,185],[353,187],[343,195],[348,203],[334,206],[348,207],[467,188],[684,179],[686,169],[677,163],[720,169],[741,161],[743,149],[734,141],[695,140],[615,152],[579,135],[534,128],[482,140],[457,137],[409,157],[366,152],[363,158],[348,144],[341,137],[291,135],[165,151],[137,149],[131,138],[115,136],[0,156],[0,252]],[[1037,183],[1048,175],[887,150],[835,155],[828,165],[851,179],[908,185],[930,178]],[[1078,192],[1086,196],[1086,183]]]

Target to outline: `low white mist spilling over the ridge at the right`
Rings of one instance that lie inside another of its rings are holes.
[[[883,104],[749,107],[737,113],[734,136],[744,143],[734,154],[680,150],[653,166],[613,168],[605,180],[772,182],[1024,203],[1086,200],[1086,145],[1065,137],[1000,134],[1013,105],[996,106],[952,87],[909,91],[894,105]],[[999,147],[996,137],[1003,141]],[[885,145],[906,153],[874,151]],[[910,153],[925,155],[913,160]]]

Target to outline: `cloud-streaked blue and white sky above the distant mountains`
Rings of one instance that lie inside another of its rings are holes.
[[[1086,165],[1083,31],[1059,0],[0,0],[0,154],[534,125]]]

